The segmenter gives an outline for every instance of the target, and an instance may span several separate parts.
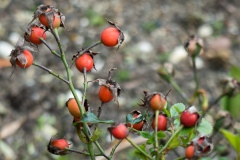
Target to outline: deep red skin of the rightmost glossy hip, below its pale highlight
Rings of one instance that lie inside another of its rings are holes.
[[[199,116],[197,113],[190,113],[189,111],[184,111],[181,114],[180,122],[184,127],[193,127],[195,126]]]

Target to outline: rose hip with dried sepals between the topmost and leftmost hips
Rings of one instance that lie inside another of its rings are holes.
[[[31,44],[41,44],[41,39],[46,40],[45,28],[39,23],[34,23],[26,27],[24,39]]]

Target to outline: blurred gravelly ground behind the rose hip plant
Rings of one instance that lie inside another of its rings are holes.
[[[32,20],[33,12],[40,4],[50,4],[66,16],[65,29],[59,34],[70,63],[77,51],[96,42],[102,30],[109,26],[106,19],[117,22],[124,32],[125,41],[119,50],[99,45],[92,49],[101,54],[95,56],[97,71],[89,73],[88,80],[106,78],[110,68],[121,86],[120,107],[112,101],[103,107],[102,119],[125,122],[126,114],[137,109],[143,98],[143,91],[167,93],[171,104],[183,102],[181,96],[157,74],[158,68],[170,62],[175,69],[175,80],[188,96],[194,91],[190,58],[183,48],[192,34],[203,38],[205,53],[197,59],[200,86],[207,91],[209,101],[221,93],[220,80],[234,73],[239,78],[239,26],[240,3],[238,0],[2,0],[0,6],[0,160],[64,160],[88,159],[77,154],[63,157],[53,156],[47,151],[49,139],[64,136],[71,147],[84,151],[72,124],[72,116],[65,107],[71,97],[68,87],[46,71],[37,67],[13,68],[9,54],[17,40],[24,35],[26,25]],[[47,42],[56,49],[50,33]],[[25,45],[29,45],[25,43]],[[37,50],[37,48],[36,48]],[[66,76],[64,66],[44,45],[34,53],[35,62],[42,64],[62,76]],[[83,75],[72,66],[75,87],[83,89]],[[240,80],[240,79],[239,79]],[[97,84],[89,84],[87,99],[90,107],[97,112],[100,105]],[[239,104],[225,107],[239,126]],[[209,112],[209,120],[214,125],[219,112],[218,103]],[[214,113],[214,115],[212,115]],[[107,125],[101,125],[107,128]],[[239,128],[239,127],[238,127]],[[216,133],[214,143],[216,159],[232,159],[234,152],[220,133]],[[219,141],[221,139],[221,141]],[[104,149],[113,141],[105,130],[99,139]],[[184,153],[177,148],[180,156]],[[213,154],[211,155],[213,157]],[[210,157],[211,157],[210,156]],[[136,159],[134,149],[117,154],[117,159]],[[167,159],[178,156],[170,153]]]

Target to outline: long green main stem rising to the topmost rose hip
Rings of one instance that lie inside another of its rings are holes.
[[[57,41],[58,47],[59,47],[60,52],[61,52],[61,59],[62,59],[62,62],[64,64],[64,66],[65,66],[65,69],[66,69],[66,72],[67,72],[68,81],[69,81],[68,86],[69,86],[69,88],[70,88],[70,90],[71,90],[71,92],[72,92],[72,94],[73,94],[73,96],[74,96],[74,98],[75,98],[75,100],[76,100],[76,102],[78,104],[79,110],[81,112],[81,117],[83,117],[83,114],[85,113],[84,106],[82,106],[82,104],[80,103],[80,100],[79,100],[79,98],[78,98],[78,96],[76,94],[75,88],[73,86],[72,78],[71,78],[71,74],[70,74],[70,69],[68,67],[68,63],[67,63],[67,60],[66,60],[66,57],[65,57],[65,53],[64,53],[64,51],[62,49],[62,44],[61,44],[60,38],[58,36],[58,30],[56,28],[54,30],[52,28],[50,28],[50,29],[51,29],[51,32],[52,32],[53,36],[55,37],[55,39]],[[86,137],[88,139],[87,145],[88,145],[88,151],[89,151],[90,157],[91,157],[92,160],[95,160],[93,144],[92,144],[92,142],[90,140],[89,127],[88,127],[86,122],[83,123],[83,130],[82,131],[83,131],[83,133],[86,135]]]

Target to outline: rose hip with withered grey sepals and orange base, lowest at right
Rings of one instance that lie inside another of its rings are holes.
[[[185,156],[188,159],[198,159],[202,156],[208,155],[212,150],[213,143],[211,138],[206,135],[198,135],[186,148]]]

